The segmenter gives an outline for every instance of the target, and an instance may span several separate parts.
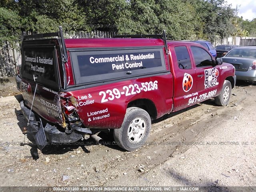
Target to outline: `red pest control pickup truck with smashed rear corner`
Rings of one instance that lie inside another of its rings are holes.
[[[49,37],[57,38],[49,38]],[[231,64],[199,44],[162,35],[64,39],[62,30],[24,36],[20,106],[38,148],[113,129],[125,150],[142,146],[151,120],[209,98],[228,104]]]

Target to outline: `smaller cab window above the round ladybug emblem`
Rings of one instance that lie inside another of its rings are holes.
[[[187,47],[176,46],[174,47],[174,50],[178,61],[178,67],[180,69],[192,69],[192,64]]]

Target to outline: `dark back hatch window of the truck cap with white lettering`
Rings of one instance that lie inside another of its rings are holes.
[[[22,77],[51,88],[59,88],[55,46],[23,48]]]

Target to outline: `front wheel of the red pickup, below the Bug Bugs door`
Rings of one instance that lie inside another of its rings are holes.
[[[232,87],[230,81],[225,80],[221,92],[215,97],[214,102],[219,106],[227,105],[231,96],[231,90]]]

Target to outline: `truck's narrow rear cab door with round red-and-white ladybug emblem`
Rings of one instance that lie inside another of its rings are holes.
[[[187,46],[170,45],[171,70],[174,78],[174,108],[173,111],[186,108],[193,103],[188,101],[196,96],[196,71]]]

